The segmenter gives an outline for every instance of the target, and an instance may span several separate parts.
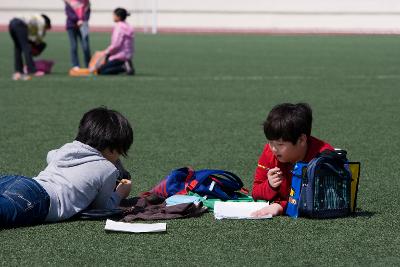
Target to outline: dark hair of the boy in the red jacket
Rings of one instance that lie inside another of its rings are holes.
[[[264,122],[268,140],[290,141],[296,144],[302,134],[311,135],[312,110],[306,103],[276,105]]]

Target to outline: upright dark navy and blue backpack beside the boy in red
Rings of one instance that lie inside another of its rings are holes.
[[[287,214],[336,218],[351,213],[351,172],[346,152],[325,150],[308,164],[296,163]]]

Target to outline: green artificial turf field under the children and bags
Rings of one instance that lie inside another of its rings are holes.
[[[91,34],[92,50],[108,34]],[[362,162],[358,216],[334,220],[166,221],[165,234],[106,233],[104,221],[0,231],[0,265],[400,264],[400,38],[398,36],[143,35],[137,76],[71,78],[66,33],[49,33],[54,73],[12,81],[0,33],[0,173],[35,176],[46,153],[74,139],[100,105],[134,125],[125,166],[132,196],[170,170],[233,171],[251,188],[261,124],[281,102],[306,101],[313,135]]]

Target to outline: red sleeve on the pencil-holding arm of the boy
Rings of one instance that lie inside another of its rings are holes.
[[[261,154],[256,172],[254,174],[252,196],[255,200],[272,200],[278,194],[277,189],[272,188],[268,182],[268,170],[273,168],[275,163],[268,145]]]

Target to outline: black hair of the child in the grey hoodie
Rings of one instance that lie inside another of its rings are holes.
[[[83,115],[76,140],[99,151],[117,150],[126,157],[133,142],[133,130],[119,112],[99,107]]]

